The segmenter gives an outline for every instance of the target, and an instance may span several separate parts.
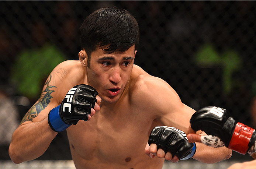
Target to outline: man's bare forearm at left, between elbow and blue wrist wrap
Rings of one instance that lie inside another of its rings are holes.
[[[38,158],[49,147],[57,135],[47,121],[27,123],[14,131],[9,147],[9,155],[14,163],[21,163]]]

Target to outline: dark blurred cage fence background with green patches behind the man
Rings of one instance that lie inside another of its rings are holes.
[[[256,128],[256,1],[0,1],[0,160],[52,69],[78,60],[80,24],[107,6],[138,21],[135,64],[191,108],[219,106]],[[70,159],[65,131],[38,158]]]

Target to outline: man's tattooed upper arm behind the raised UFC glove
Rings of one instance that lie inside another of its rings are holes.
[[[51,109],[61,102],[59,88],[62,88],[62,81],[65,79],[66,70],[58,65],[48,76],[42,93],[37,102],[28,110],[20,124],[40,122],[48,116]]]

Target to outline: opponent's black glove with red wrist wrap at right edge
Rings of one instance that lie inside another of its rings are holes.
[[[225,109],[215,106],[202,108],[194,113],[190,124],[194,131],[202,130],[208,135],[218,136],[229,149],[241,154],[251,155],[252,151],[255,152],[255,130],[236,122]],[[210,143],[212,140],[208,141]]]

